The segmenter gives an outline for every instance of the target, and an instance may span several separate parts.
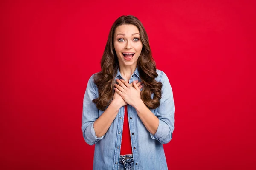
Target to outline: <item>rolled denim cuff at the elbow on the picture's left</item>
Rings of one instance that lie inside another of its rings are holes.
[[[88,125],[87,128],[84,130],[84,139],[85,139],[85,142],[87,142],[87,144],[89,145],[95,144],[99,140],[103,139],[103,137],[105,136],[103,135],[102,137],[97,137],[95,135],[95,130],[93,125],[94,125],[94,122]]]

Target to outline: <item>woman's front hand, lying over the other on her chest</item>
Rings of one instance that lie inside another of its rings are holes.
[[[116,79],[118,84],[115,84],[115,91],[125,100],[126,103],[133,106],[140,102],[140,88],[136,85],[136,81],[133,84],[125,82],[125,80]]]

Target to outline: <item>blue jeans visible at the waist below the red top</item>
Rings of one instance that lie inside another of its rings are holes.
[[[119,170],[134,170],[132,154],[119,156]]]

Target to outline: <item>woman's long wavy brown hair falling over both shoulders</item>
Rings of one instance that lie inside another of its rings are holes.
[[[99,97],[93,99],[93,103],[96,104],[99,110],[105,111],[106,106],[113,100],[115,76],[119,68],[116,51],[113,49],[113,37],[116,28],[123,24],[137,26],[140,31],[140,39],[143,43],[141,54],[137,61],[140,79],[143,83],[143,89],[140,94],[145,105],[150,109],[155,109],[160,105],[162,83],[155,80],[158,74],[145,28],[140,20],[132,15],[123,15],[117,18],[111,26],[101,59],[101,71],[94,75],[94,83],[98,87]],[[151,99],[152,93],[154,93],[153,99]]]

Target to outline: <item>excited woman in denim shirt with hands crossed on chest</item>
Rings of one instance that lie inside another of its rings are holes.
[[[95,144],[93,170],[167,170],[163,144],[174,130],[174,100],[156,69],[143,24],[119,17],[83,99],[82,132]]]

